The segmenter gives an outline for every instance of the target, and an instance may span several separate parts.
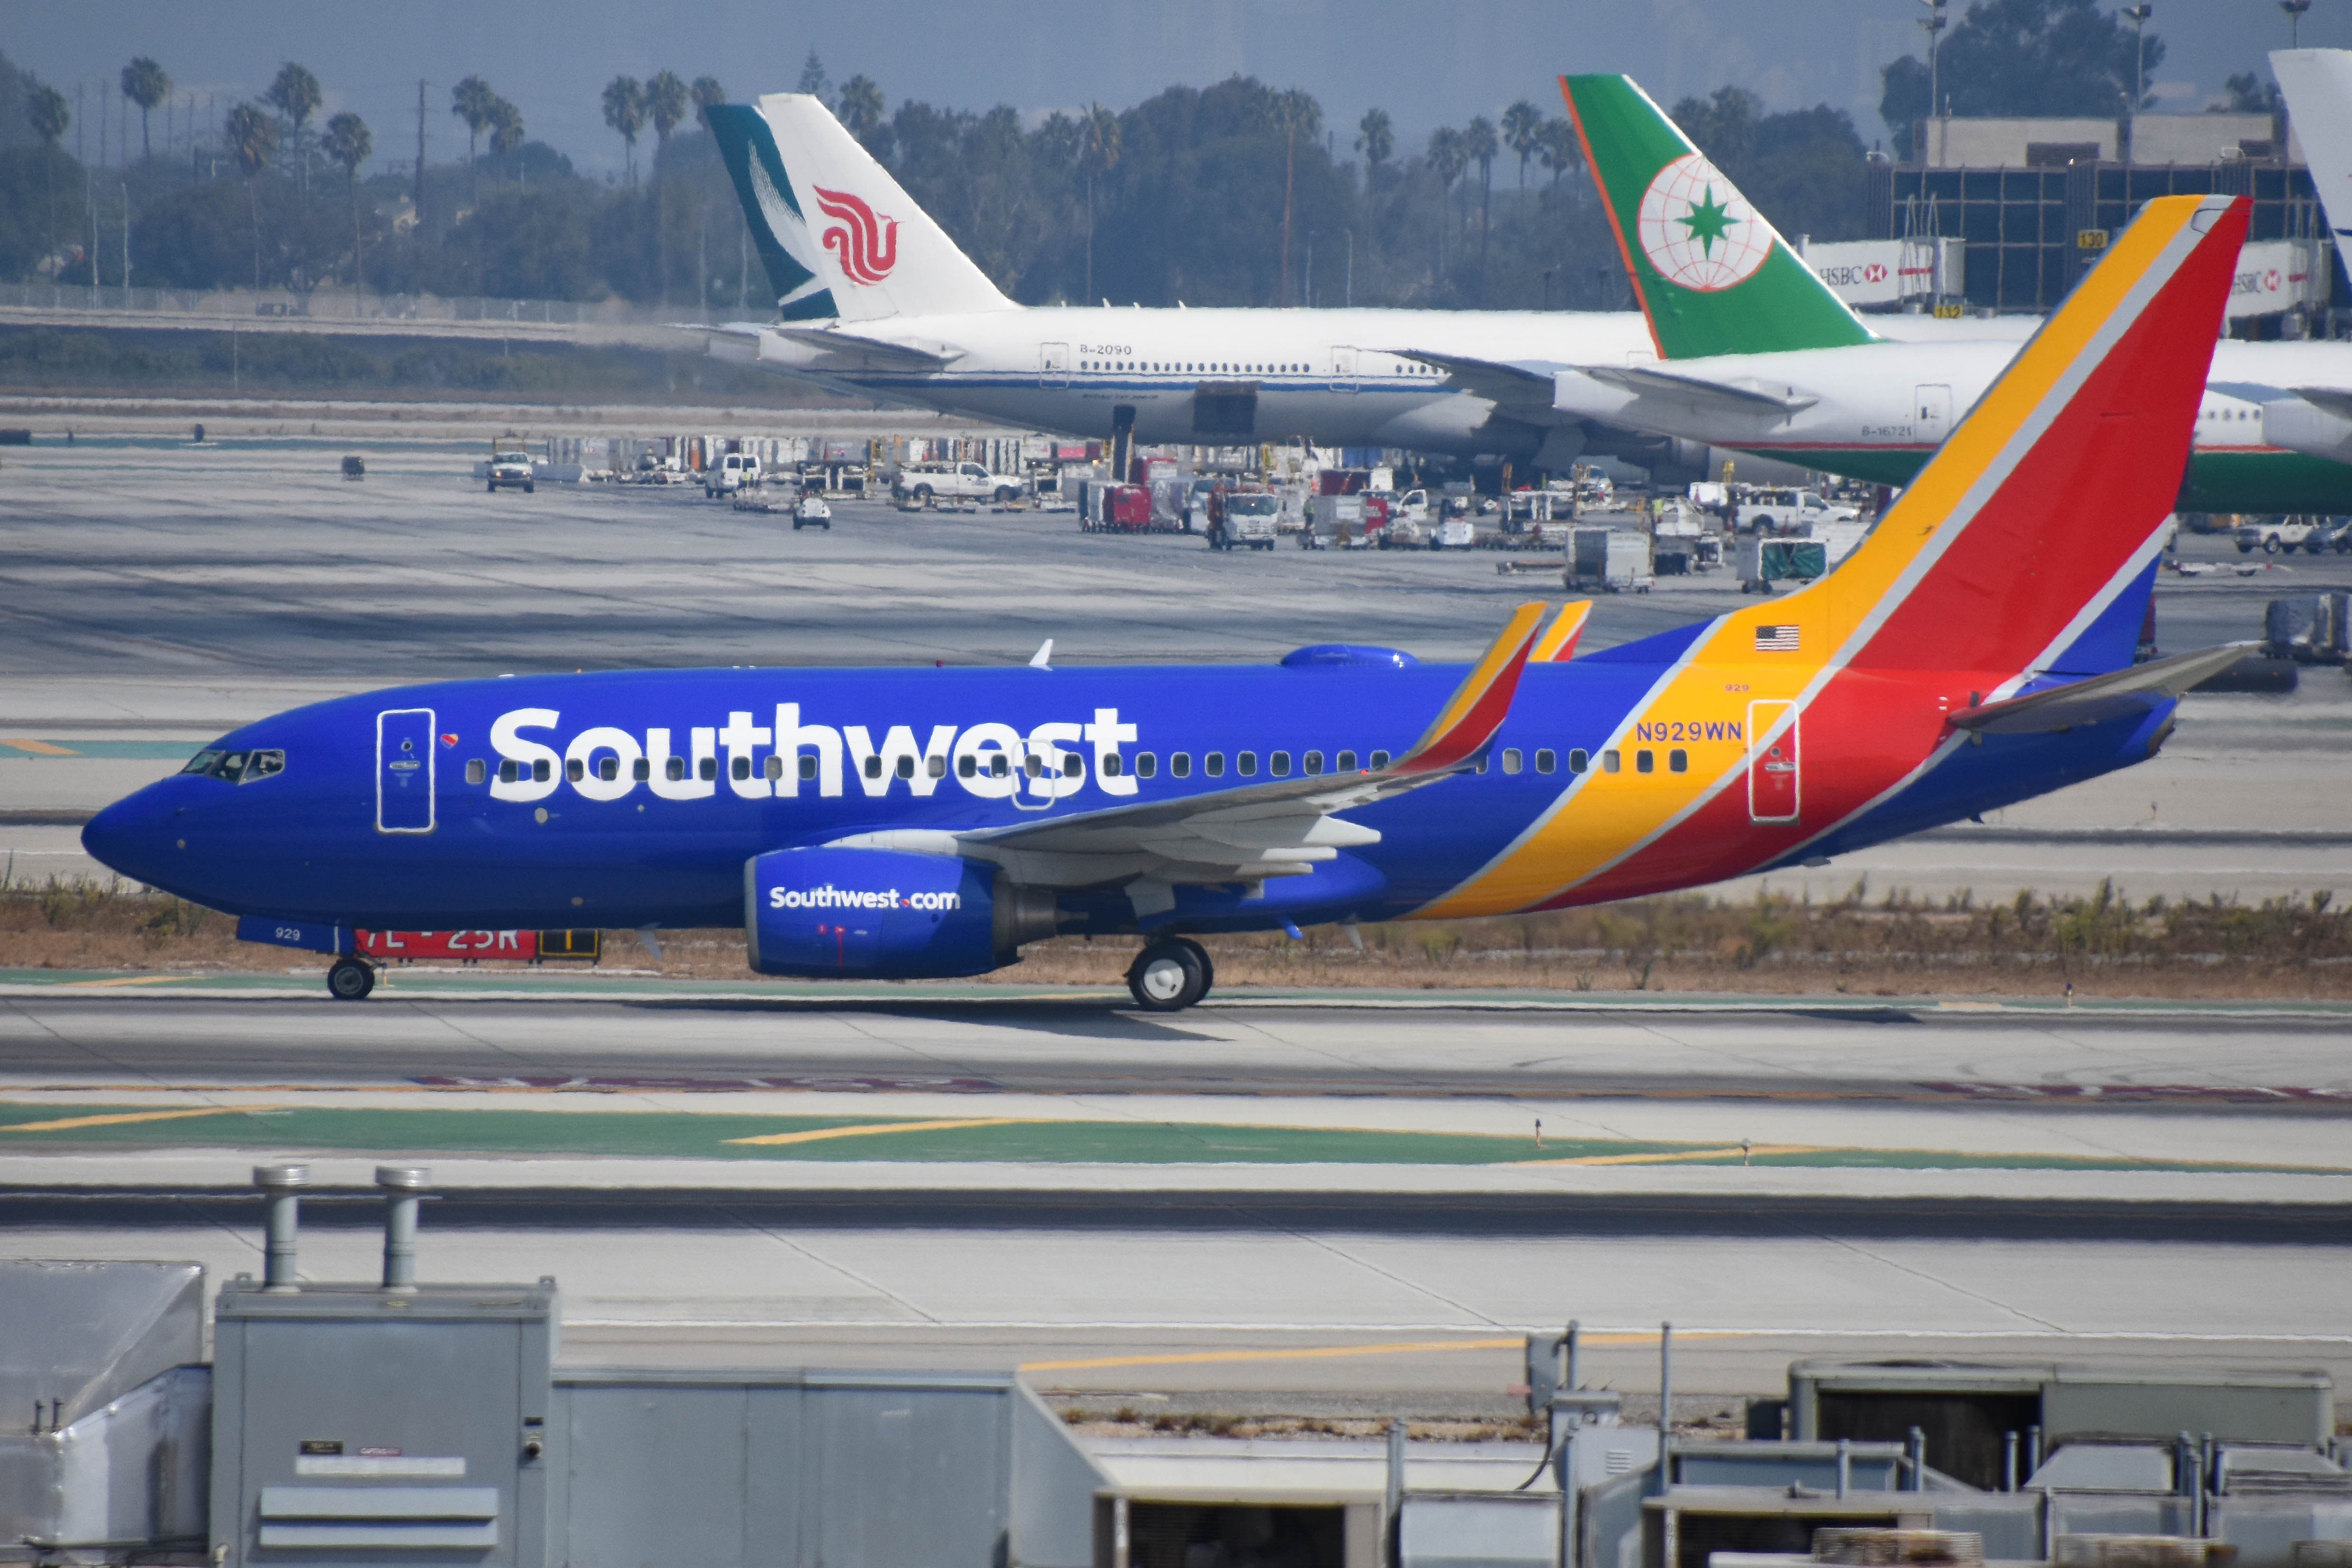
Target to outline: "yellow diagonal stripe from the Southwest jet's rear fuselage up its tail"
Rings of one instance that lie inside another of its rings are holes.
[[[1745,733],[1748,703],[1799,701],[1825,668],[1844,663],[1846,642],[1896,590],[1969,491],[2025,456],[2030,442],[2020,444],[2020,435],[2034,411],[2131,289],[2164,259],[2197,205],[2199,197],[2150,202],[1832,576],[1717,621],[1606,741],[1606,748],[1621,752],[1618,773],[1604,773],[1595,752],[1592,769],[1573,778],[1543,818],[1421,914],[1461,919],[1543,903],[1623,860],[1717,788],[1745,788],[1740,773],[1748,745],[1755,741]],[[1795,625],[1797,651],[1757,654],[1759,625]],[[1700,733],[1712,724],[1738,722],[1743,738],[1738,743],[1635,738],[1642,724],[1689,729],[1693,722],[1700,724]],[[1691,755],[1686,773],[1668,771],[1668,750],[1675,745]],[[1651,773],[1635,771],[1635,752],[1642,748],[1653,752]]]

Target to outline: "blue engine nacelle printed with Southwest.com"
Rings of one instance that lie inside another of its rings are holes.
[[[743,863],[743,938],[764,976],[943,980],[1054,936],[1054,896],[983,860],[776,849]]]

